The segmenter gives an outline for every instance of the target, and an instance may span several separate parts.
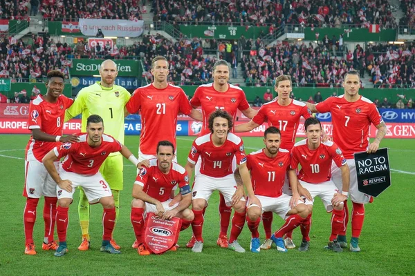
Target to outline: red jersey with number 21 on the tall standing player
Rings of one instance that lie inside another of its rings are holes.
[[[131,114],[140,110],[140,151],[145,155],[156,155],[160,137],[171,141],[176,147],[178,112],[185,115],[192,112],[182,88],[170,83],[165,89],[157,89],[153,83],[137,88],[125,107]]]

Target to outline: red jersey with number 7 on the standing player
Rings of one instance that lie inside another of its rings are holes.
[[[354,152],[367,150],[370,124],[378,126],[383,121],[376,105],[362,96],[353,103],[344,99],[344,95],[329,97],[315,108],[320,113],[331,112],[333,141],[346,159],[353,159]]]

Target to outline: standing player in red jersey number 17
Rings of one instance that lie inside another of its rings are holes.
[[[250,122],[236,126],[235,132],[253,130],[268,120],[268,126],[276,126],[281,131],[282,141],[280,148],[291,150],[295,143],[299,119],[301,117],[304,119],[311,117],[310,111],[304,103],[290,98],[291,91],[293,91],[291,77],[288,75],[278,76],[277,79],[275,79],[275,92],[278,94],[278,99],[264,103],[264,105],[259,108],[258,114],[255,115]],[[289,188],[290,185],[286,178],[284,193],[291,194]],[[273,213],[265,212],[262,215],[262,222],[264,224],[266,240],[264,241],[264,244],[262,244],[261,249],[269,249],[273,243],[270,239]],[[295,248],[292,236],[293,233],[288,232],[284,241],[286,248],[288,249]]]

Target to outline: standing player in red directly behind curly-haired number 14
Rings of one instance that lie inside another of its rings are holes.
[[[213,83],[199,86],[194,92],[192,99],[190,99],[190,104],[193,108],[198,108],[199,106],[202,108],[203,126],[200,136],[210,133],[208,120],[215,110],[225,110],[232,116],[233,122],[237,117],[237,110],[241,110],[242,114],[250,119],[257,114],[257,110],[250,107],[242,88],[228,83],[229,70],[230,66],[227,61],[216,61],[213,66]],[[233,132],[233,128],[231,131]],[[200,161],[196,164],[196,175],[199,175],[200,164]],[[203,211],[205,212],[205,209]],[[232,208],[226,206],[223,195],[220,194],[219,214],[221,231],[216,243],[223,248],[228,247],[227,233],[231,212]],[[190,242],[187,243],[187,247],[193,247],[194,242],[195,239],[192,237]]]

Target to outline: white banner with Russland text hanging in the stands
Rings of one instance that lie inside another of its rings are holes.
[[[144,21],[118,19],[80,19],[82,34],[95,37],[98,29],[106,37],[140,37],[143,32]]]

